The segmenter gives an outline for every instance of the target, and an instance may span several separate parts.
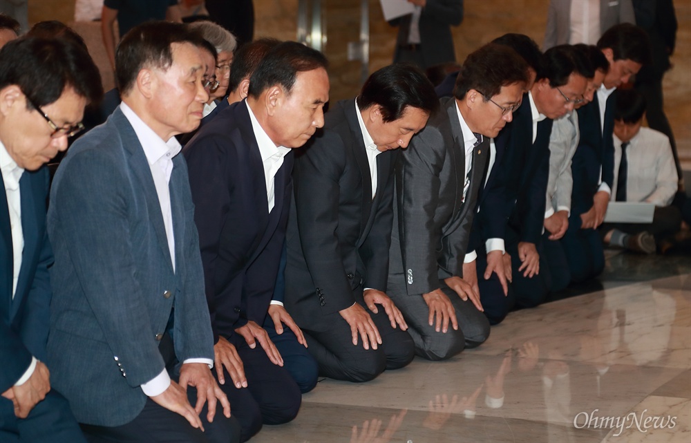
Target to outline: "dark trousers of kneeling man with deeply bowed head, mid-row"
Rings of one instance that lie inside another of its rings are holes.
[[[334,312],[325,321],[330,325],[327,330],[303,330],[308,349],[319,364],[319,375],[345,381],[370,381],[386,369],[403,368],[413,361],[415,346],[408,332],[392,328],[381,305],[377,306],[377,314],[363,303],[361,306],[377,326],[381,345],[373,349],[370,343],[370,349],[366,350],[362,337],[358,337],[357,346],[353,345],[350,325]]]

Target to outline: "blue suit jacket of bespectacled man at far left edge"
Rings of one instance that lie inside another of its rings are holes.
[[[0,179],[2,178],[0,174]],[[46,234],[48,168],[24,171],[19,180],[24,248],[12,299],[12,233],[4,186],[0,192],[0,392],[12,387],[31,363],[46,359],[53,252]]]

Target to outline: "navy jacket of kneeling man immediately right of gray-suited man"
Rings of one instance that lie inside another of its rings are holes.
[[[549,178],[549,135],[552,120],[538,122],[533,142],[533,115],[528,94],[495,138],[497,155],[485,190],[480,198],[477,227],[482,240],[506,238],[497,226],[508,224],[520,241],[537,244],[545,220],[545,194]],[[501,205],[500,199],[504,199]],[[475,226],[474,226],[475,227]],[[475,243],[477,246],[477,243]]]

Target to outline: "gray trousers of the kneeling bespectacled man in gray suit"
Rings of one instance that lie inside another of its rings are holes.
[[[400,280],[404,282],[403,279]],[[388,290],[388,295],[396,303],[408,323],[408,333],[415,342],[415,353],[428,360],[451,358],[464,348],[480,346],[489,337],[489,321],[475,308],[473,302],[470,299],[463,301],[443,281],[440,281],[439,285],[453,304],[458,330],[451,328],[451,322],[446,333],[437,332],[435,325],[430,326],[429,308],[422,294],[407,294],[403,292],[405,290],[403,287]]]

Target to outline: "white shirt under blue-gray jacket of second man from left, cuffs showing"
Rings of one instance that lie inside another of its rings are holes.
[[[156,195],[163,215],[163,224],[166,228],[166,238],[168,241],[168,250],[171,254],[171,265],[173,265],[173,272],[175,271],[175,237],[173,236],[173,213],[171,212],[171,196],[169,183],[171,174],[173,173],[173,157],[180,153],[180,143],[175,137],[165,142],[160,138],[153,129],[146,126],[146,123],[135,114],[135,112],[127,106],[125,102],[120,104],[120,111],[124,114],[127,121],[132,125],[137,138],[144,149],[146,161],[149,162],[149,169],[151,169],[151,176],[153,184],[156,187]],[[209,368],[214,366],[214,361],[211,359],[187,359],[183,361],[188,363],[205,363]],[[164,369],[162,372],[141,385],[144,394],[149,397],[155,397],[164,393],[171,384],[171,379],[168,372]]]

